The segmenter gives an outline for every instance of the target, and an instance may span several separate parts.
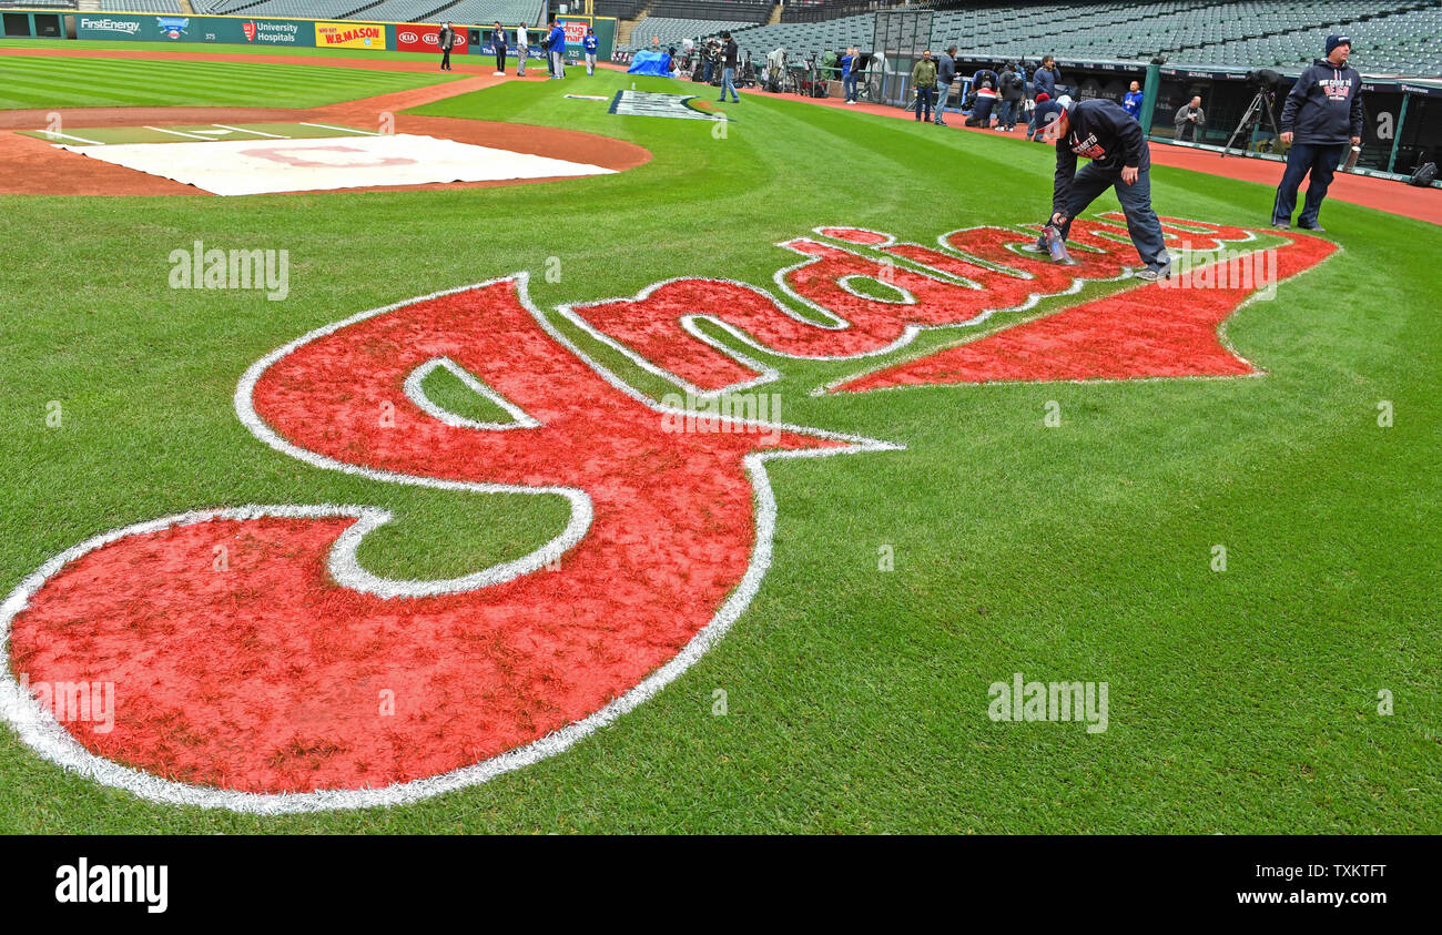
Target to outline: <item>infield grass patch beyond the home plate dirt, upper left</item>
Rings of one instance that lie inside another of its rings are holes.
[[[320,107],[453,81],[343,66],[149,59],[0,58],[0,110]]]

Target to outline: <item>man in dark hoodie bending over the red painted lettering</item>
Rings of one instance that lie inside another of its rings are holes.
[[[1044,143],[1057,144],[1057,175],[1051,189],[1051,224],[1064,238],[1071,221],[1109,188],[1126,214],[1132,245],[1146,264],[1136,278],[1156,281],[1171,274],[1171,258],[1162,241],[1162,225],[1152,211],[1151,153],[1142,127],[1120,104],[1106,98],[1057,101],[1037,105],[1037,131]],[[1077,170],[1077,156],[1092,162]],[[1028,245],[1045,253],[1044,240]]]

